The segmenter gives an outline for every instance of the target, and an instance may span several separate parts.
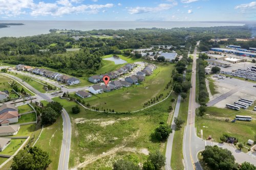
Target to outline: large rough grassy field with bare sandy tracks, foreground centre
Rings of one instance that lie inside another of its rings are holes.
[[[134,114],[99,113],[80,106],[81,112],[73,114],[71,110],[75,102],[54,98],[71,116],[70,167],[79,164],[83,169],[100,169],[111,167],[120,158],[144,162],[148,152],[164,145],[151,135],[160,122],[167,121],[171,98],[172,95],[166,101]]]

